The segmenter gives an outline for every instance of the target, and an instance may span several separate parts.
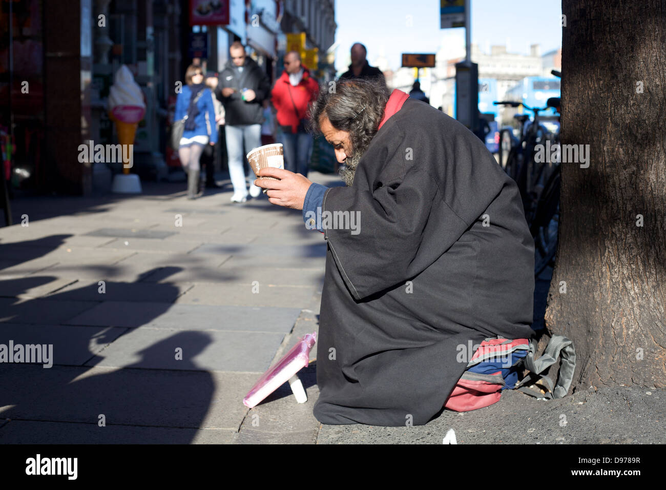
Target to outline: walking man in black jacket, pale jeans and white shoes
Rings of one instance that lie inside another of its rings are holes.
[[[218,99],[222,101],[225,111],[224,135],[229,176],[234,186],[231,201],[244,203],[248,188],[243,163],[246,153],[261,146],[261,123],[264,119],[262,102],[269,95],[270,80],[261,67],[245,54],[245,48],[238,41],[230,46],[229,54],[230,59],[220,72]],[[254,181],[251,169],[248,178],[250,195],[257,197],[261,189],[251,183]]]

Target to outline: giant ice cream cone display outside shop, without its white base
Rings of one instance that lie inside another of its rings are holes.
[[[139,84],[134,81],[132,72],[123,65],[116,72],[113,85],[109,89],[109,117],[116,125],[118,142],[121,145],[131,145],[130,151],[123,151],[129,155],[129,161],[123,157],[123,173],[128,174],[133,165],[134,137],[137,133],[139,121],[146,113],[146,104]]]

